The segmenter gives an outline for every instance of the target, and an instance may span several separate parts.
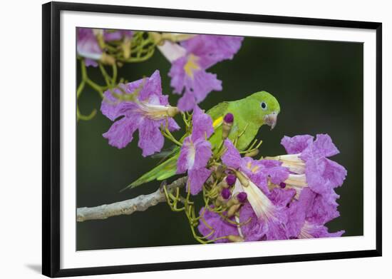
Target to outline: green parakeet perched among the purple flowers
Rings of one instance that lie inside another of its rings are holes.
[[[232,113],[234,123],[229,132],[228,138],[234,141],[239,133],[243,133],[237,141],[239,151],[245,150],[257,135],[259,128],[264,124],[274,126],[277,123],[277,116],[280,112],[280,106],[277,99],[266,91],[260,91],[242,98],[238,101],[222,102],[214,106],[207,114],[212,118],[214,133],[210,136],[209,141],[212,144],[212,151],[216,150],[222,142],[222,123],[227,113]],[[180,148],[172,152],[172,156],[153,170],[145,173],[128,187],[140,186],[153,180],[163,181],[174,176],[177,171],[177,158]],[[127,188],[128,188],[127,187]]]

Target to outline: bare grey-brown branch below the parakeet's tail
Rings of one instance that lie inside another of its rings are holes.
[[[187,176],[178,178],[170,185],[167,185],[167,191],[173,191],[175,188],[182,188],[187,183]],[[158,188],[154,193],[148,195],[140,195],[136,198],[131,198],[126,201],[119,201],[117,203],[104,204],[93,208],[78,208],[76,210],[76,220],[83,222],[86,220],[103,220],[112,216],[130,215],[135,211],[144,211],[151,206],[156,206],[158,203],[166,201],[163,187]]]

